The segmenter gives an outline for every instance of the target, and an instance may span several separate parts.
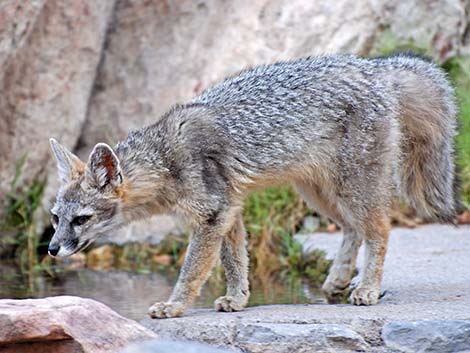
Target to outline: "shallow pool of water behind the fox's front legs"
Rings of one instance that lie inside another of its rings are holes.
[[[217,276],[220,277],[220,276]],[[156,301],[168,299],[176,282],[176,273],[140,274],[126,271],[64,271],[51,278],[36,274],[20,274],[14,265],[0,263],[0,298],[42,298],[55,295],[76,295],[98,300],[121,315],[140,320]],[[250,305],[287,303],[324,303],[323,296],[299,279],[270,282],[264,286],[251,280]],[[212,308],[214,300],[224,295],[223,280],[211,278],[194,307]]]

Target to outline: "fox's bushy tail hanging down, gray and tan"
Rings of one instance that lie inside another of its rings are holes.
[[[397,66],[402,130],[401,193],[428,220],[452,221],[455,199],[456,104],[445,73],[412,57]]]

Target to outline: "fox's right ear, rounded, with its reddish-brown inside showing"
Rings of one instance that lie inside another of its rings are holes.
[[[119,186],[122,183],[121,166],[113,149],[98,143],[90,154],[85,175],[88,184],[99,189],[106,185]]]

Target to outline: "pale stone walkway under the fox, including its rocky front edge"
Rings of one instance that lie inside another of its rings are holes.
[[[341,234],[298,236],[332,257]],[[362,266],[362,251],[358,259]],[[144,319],[162,337],[243,352],[470,352],[470,226],[394,229],[384,297],[370,307],[272,305]]]

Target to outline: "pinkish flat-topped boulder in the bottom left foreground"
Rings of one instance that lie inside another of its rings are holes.
[[[115,353],[156,336],[91,299],[0,300],[2,353]]]

